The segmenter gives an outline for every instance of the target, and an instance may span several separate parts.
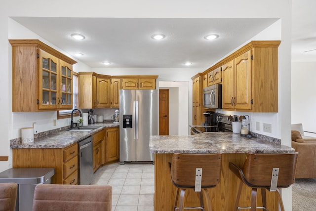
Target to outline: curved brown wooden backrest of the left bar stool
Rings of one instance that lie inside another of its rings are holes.
[[[196,168],[202,168],[201,187],[214,187],[220,181],[221,154],[179,154],[171,161],[171,179],[177,187],[195,186]]]

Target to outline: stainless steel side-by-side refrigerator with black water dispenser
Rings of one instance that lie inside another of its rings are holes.
[[[149,138],[158,135],[158,90],[119,90],[119,161],[153,163]]]

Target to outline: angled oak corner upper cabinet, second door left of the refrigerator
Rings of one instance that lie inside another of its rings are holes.
[[[110,84],[111,79],[107,76],[97,75],[96,82],[96,95],[97,95],[97,108],[110,107]]]

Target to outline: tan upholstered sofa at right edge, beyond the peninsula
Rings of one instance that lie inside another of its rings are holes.
[[[305,136],[302,124],[292,125],[292,147],[299,153],[295,178],[316,178],[316,138]]]

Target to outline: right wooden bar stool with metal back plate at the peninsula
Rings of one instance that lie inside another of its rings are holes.
[[[266,208],[266,190],[277,192],[279,207],[281,211],[284,211],[279,189],[287,188],[294,183],[297,156],[297,152],[289,154],[249,154],[242,169],[233,163],[229,163],[230,169],[241,180],[234,211],[240,211],[240,209],[250,209],[250,211],[256,211],[256,209],[268,210]],[[238,207],[243,183],[252,188],[250,207]],[[257,207],[257,189],[261,189],[262,207]]]

